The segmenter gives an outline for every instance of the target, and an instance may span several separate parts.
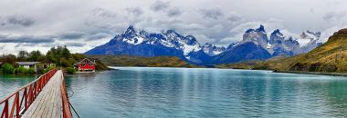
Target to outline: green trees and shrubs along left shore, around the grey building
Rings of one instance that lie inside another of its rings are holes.
[[[74,64],[87,58],[85,54],[71,54],[66,46],[52,47],[47,54],[40,51],[20,51],[15,54],[3,54],[0,56],[1,74],[45,74],[49,70],[62,67],[68,74],[74,74],[76,69]],[[97,71],[108,70],[109,68],[96,61],[95,69]]]

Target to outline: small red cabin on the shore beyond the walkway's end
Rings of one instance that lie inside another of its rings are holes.
[[[75,69],[77,69],[79,72],[95,72],[95,65],[95,60],[90,61],[88,58],[84,58],[79,63],[74,64]]]

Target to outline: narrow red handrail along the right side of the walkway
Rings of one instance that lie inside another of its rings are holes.
[[[72,113],[70,109],[70,105],[68,102],[68,93],[67,93],[67,86],[64,81],[64,74],[61,74],[61,102],[63,104],[63,118],[72,118]]]

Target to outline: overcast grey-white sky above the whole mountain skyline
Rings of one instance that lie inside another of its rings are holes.
[[[1,0],[1,54],[47,52],[67,45],[74,53],[107,43],[128,25],[148,32],[174,29],[200,44],[242,40],[265,25],[298,36],[321,31],[321,40],[347,27],[345,0]]]

